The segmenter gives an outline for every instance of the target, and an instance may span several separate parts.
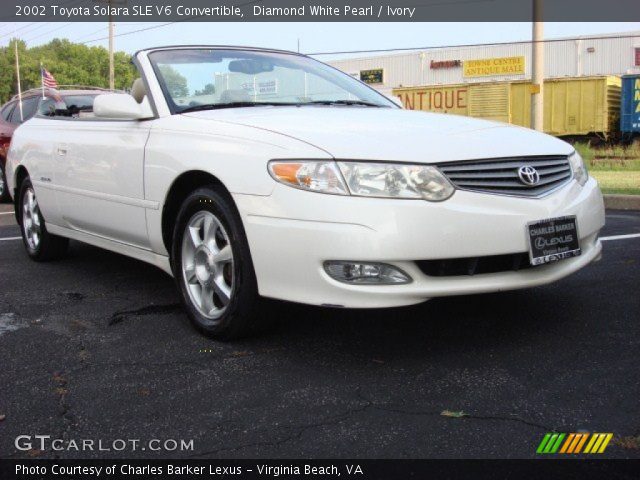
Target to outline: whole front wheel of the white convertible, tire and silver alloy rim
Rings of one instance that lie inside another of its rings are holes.
[[[242,220],[215,186],[189,195],[178,212],[171,264],[194,327],[217,340],[251,334],[262,300]]]

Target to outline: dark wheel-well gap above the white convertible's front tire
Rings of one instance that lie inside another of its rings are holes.
[[[194,190],[209,185],[217,187],[222,193],[228,196],[231,204],[235,206],[229,189],[215,175],[205,172],[204,170],[189,170],[181,173],[169,187],[162,208],[162,241],[167,252],[171,252],[173,225],[182,202],[184,202],[185,198]]]

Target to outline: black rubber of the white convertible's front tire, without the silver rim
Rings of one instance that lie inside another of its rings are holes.
[[[227,231],[234,259],[231,301],[214,324],[192,304],[182,274],[182,239],[187,223],[199,211],[211,212],[220,220]],[[253,323],[258,302],[257,282],[242,221],[229,195],[215,187],[199,188],[190,194],[178,212],[171,250],[173,275],[193,325],[202,333],[219,340],[246,335]]]

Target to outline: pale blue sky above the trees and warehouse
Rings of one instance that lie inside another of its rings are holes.
[[[118,23],[117,50],[133,53],[146,47],[171,44],[221,44],[297,50],[303,53],[427,47],[454,44],[527,40],[530,23]],[[594,35],[640,30],[640,23],[546,23],[546,37]],[[14,35],[30,46],[53,38],[68,38],[88,45],[107,46],[106,23],[0,23],[0,46]],[[123,35],[124,34],[124,35]],[[639,42],[640,43],[640,42]],[[356,55],[349,55],[356,56]]]

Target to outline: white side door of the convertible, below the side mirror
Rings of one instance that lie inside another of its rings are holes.
[[[140,248],[149,247],[144,149],[150,122],[54,120],[55,183],[64,226]]]

